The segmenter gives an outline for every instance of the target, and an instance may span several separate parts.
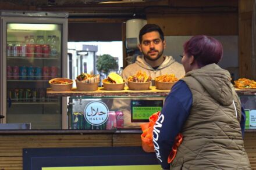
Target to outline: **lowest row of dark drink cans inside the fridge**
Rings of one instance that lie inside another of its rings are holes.
[[[46,91],[40,89],[8,89],[8,99],[15,102],[45,102]]]

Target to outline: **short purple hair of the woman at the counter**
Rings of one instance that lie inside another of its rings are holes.
[[[194,56],[198,64],[218,64],[223,56],[221,42],[206,35],[197,35],[189,39],[183,45],[184,53],[187,56]]]

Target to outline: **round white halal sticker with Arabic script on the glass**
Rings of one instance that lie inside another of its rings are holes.
[[[91,125],[102,125],[108,120],[108,107],[100,101],[90,102],[84,108],[84,118]]]

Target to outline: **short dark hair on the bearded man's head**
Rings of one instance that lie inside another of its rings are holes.
[[[145,24],[145,26],[143,28],[141,28],[140,34],[138,35],[138,39],[140,40],[140,44],[142,42],[142,36],[144,34],[147,34],[148,32],[152,32],[152,31],[159,32],[160,38],[162,39],[162,41],[165,40],[165,38],[163,37],[163,31],[161,30],[161,28],[157,24]]]

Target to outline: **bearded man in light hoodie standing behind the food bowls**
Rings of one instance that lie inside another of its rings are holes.
[[[182,64],[175,62],[172,56],[163,55],[166,42],[163,32],[156,24],[146,24],[140,30],[138,48],[143,53],[137,56],[136,62],[130,64],[123,70],[123,78],[127,79],[137,71],[145,71],[152,79],[163,74],[175,74],[180,79],[184,77],[185,71]]]

